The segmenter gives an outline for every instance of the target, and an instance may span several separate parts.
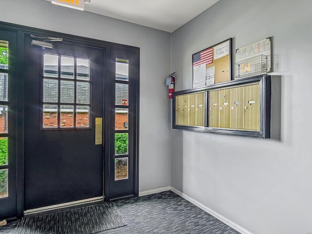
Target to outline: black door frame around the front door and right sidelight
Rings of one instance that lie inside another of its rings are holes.
[[[24,212],[24,70],[25,70],[25,59],[24,59],[24,39],[26,34],[34,34],[36,36],[52,36],[57,38],[63,38],[64,40],[85,46],[97,47],[100,49],[104,49],[105,51],[105,68],[104,68],[104,77],[106,80],[110,80],[115,83],[115,68],[112,69],[112,59],[111,59],[111,50],[120,50],[127,51],[134,54],[134,76],[131,79],[134,80],[134,84],[136,85],[136,90],[134,93],[135,104],[134,104],[134,183],[133,183],[133,195],[138,196],[138,165],[139,165],[139,54],[140,48],[128,45],[122,45],[113,42],[102,41],[98,39],[90,39],[85,37],[73,36],[69,34],[63,34],[59,32],[43,30],[33,27],[22,26],[13,23],[7,23],[0,21],[0,29],[11,31],[17,33],[17,63],[15,74],[16,77],[19,77],[19,85],[17,85],[17,217],[22,217]],[[18,68],[18,69],[17,69]],[[109,163],[110,163],[110,154],[107,152],[111,152],[112,149],[110,146],[109,136],[111,135],[110,128],[107,127],[107,123],[112,121],[109,111],[105,111],[106,100],[109,99],[110,92],[106,92],[111,87],[109,83],[107,84],[104,79],[104,131],[103,139],[104,139],[104,195],[105,201],[109,201],[112,199],[110,195],[110,171],[109,171]]]

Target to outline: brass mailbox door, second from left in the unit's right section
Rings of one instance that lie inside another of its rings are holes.
[[[220,128],[230,128],[231,89],[220,90]]]

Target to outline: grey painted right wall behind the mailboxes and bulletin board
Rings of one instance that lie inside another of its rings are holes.
[[[177,90],[192,88],[195,52],[273,36],[272,139],[172,131],[172,186],[255,234],[312,232],[311,9],[311,0],[220,0],[172,34]]]

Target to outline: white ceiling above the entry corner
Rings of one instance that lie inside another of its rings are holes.
[[[173,32],[218,0],[91,0],[84,10]]]

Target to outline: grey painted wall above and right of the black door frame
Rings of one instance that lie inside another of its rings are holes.
[[[0,21],[140,47],[139,191],[170,186],[170,33],[55,6],[2,0]],[[161,171],[161,173],[159,173]]]

